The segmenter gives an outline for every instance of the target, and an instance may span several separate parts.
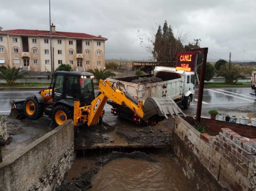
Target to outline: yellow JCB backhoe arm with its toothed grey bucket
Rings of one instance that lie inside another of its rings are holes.
[[[119,105],[125,105],[143,120],[148,120],[154,115],[168,118],[167,115],[185,115],[176,103],[169,97],[148,98],[144,101],[137,101],[127,92],[120,91],[108,80],[100,80],[100,94],[92,101],[91,105],[79,107],[79,101],[75,101],[74,106],[74,125],[79,122],[87,122],[87,125],[97,125],[99,117],[103,117],[104,105],[107,99]]]

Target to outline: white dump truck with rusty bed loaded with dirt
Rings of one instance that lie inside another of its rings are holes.
[[[153,76],[163,81],[146,84],[132,83],[135,79]],[[195,99],[196,76],[194,72],[176,70],[176,68],[156,66],[153,74],[116,79],[108,78],[108,80],[127,92],[134,101],[145,100],[148,97],[171,97],[177,105],[183,106],[183,109],[188,109]],[[107,103],[113,107],[111,109],[112,114],[128,120],[142,122],[142,119],[128,107],[117,105],[109,99]]]

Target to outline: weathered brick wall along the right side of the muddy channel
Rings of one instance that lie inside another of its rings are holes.
[[[256,139],[246,140],[229,128],[216,136],[200,134],[181,117],[175,118],[172,147],[194,190],[255,189]]]

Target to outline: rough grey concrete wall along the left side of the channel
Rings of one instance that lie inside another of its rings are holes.
[[[52,190],[75,159],[71,120],[0,164],[0,190]]]

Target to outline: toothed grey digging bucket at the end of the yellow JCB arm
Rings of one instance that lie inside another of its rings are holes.
[[[170,97],[149,97],[144,102],[144,116],[143,120],[148,120],[154,115],[168,118],[168,115],[174,117],[174,115],[186,116],[179,106]]]

